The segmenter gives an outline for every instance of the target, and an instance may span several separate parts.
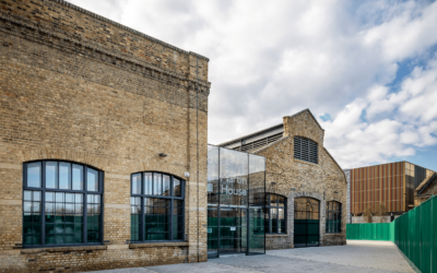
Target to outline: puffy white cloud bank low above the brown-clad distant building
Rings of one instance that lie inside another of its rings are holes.
[[[415,68],[399,92],[388,94],[387,87],[373,86],[365,99],[356,98],[332,121],[320,121],[326,145],[342,167],[412,156],[417,147],[437,144],[436,60],[426,69]],[[364,114],[370,123],[363,122]]]

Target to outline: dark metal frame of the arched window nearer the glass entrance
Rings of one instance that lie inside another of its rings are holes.
[[[144,174],[152,174],[152,194],[144,194]],[[169,176],[170,177],[170,194],[169,195],[155,195],[154,193],[154,187],[155,187],[155,182],[154,182],[154,176],[155,174],[160,174],[162,179],[161,181],[163,182],[163,176]],[[132,178],[135,175],[141,175],[141,193],[132,193]],[[174,179],[178,179],[180,181],[180,197],[175,197],[174,195]],[[163,173],[163,171],[154,171],[154,170],[146,170],[146,171],[138,171],[134,174],[130,175],[130,198],[141,198],[141,210],[140,210],[140,225],[139,225],[139,240],[132,240],[132,236],[130,237],[130,242],[131,244],[152,244],[152,242],[170,242],[170,241],[185,241],[186,240],[186,235],[185,235],[185,224],[186,224],[186,218],[185,218],[185,188],[186,188],[186,180],[181,179],[180,177],[177,177],[175,175],[168,174],[168,173]],[[145,240],[145,232],[144,232],[144,200],[146,198],[155,198],[155,199],[166,199],[166,200],[170,200],[170,239],[166,239],[166,240]],[[184,224],[182,224],[182,238],[181,239],[173,239],[174,238],[174,201],[175,200],[179,200],[182,201],[182,219],[184,219]],[[132,204],[130,204],[130,206],[132,206]],[[130,215],[132,215],[132,211],[130,211]],[[132,223],[131,223],[132,225]],[[132,232],[131,232],[132,233]]]

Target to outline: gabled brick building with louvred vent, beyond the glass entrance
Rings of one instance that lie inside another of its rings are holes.
[[[306,109],[220,144],[265,157],[267,249],[346,244],[346,178],[323,135]]]

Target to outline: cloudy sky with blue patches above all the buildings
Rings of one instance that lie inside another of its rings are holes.
[[[210,58],[212,144],[309,108],[344,168],[437,170],[437,2],[70,2]]]

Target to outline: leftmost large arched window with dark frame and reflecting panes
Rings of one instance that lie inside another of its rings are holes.
[[[24,247],[102,244],[103,171],[61,161],[23,169]]]

